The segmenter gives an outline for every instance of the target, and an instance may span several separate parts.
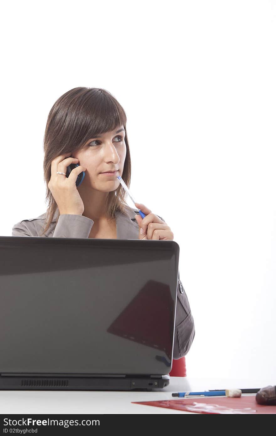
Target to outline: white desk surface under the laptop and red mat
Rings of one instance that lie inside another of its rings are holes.
[[[155,389],[151,392],[0,391],[0,411],[2,414],[192,413],[181,410],[165,409],[163,407],[132,404],[131,402],[177,399],[177,397],[172,397],[172,392],[198,392],[204,390],[207,391],[209,389],[231,388],[264,388],[268,385],[275,385],[275,380],[267,380],[265,378],[256,378],[255,380],[237,380],[230,378],[170,377],[170,384],[166,388]]]

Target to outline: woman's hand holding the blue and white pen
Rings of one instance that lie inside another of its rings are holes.
[[[140,209],[146,216],[135,215],[139,225],[139,239],[157,239],[164,241],[173,241],[174,234],[165,221],[162,221],[157,215],[151,213],[150,209],[144,204],[135,203],[136,208]],[[140,233],[142,229],[143,233]]]

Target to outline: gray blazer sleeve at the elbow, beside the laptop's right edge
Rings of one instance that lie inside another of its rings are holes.
[[[159,218],[165,221],[164,218]],[[194,333],[194,318],[178,269],[173,359],[180,359],[187,354],[194,340]]]

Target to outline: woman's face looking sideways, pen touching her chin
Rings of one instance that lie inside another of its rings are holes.
[[[72,157],[79,160],[79,165],[86,167],[83,186],[99,191],[115,191],[120,184],[117,177],[123,174],[126,158],[124,127],[119,126],[111,132],[90,138]],[[112,175],[102,174],[113,170],[117,172]]]

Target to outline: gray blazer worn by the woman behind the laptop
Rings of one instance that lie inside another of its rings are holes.
[[[117,239],[139,239],[139,226],[134,215],[137,209],[126,207],[127,216],[116,211]],[[45,223],[47,213],[37,218],[24,219],[12,228],[12,236],[39,236]],[[159,216],[159,215],[157,215]],[[161,217],[159,217],[161,218]],[[58,222],[57,222],[58,219]],[[163,218],[161,218],[164,221]],[[88,238],[94,221],[83,215],[60,215],[56,211],[53,221],[42,237],[46,238]],[[194,340],[194,319],[184,286],[179,277],[177,287],[177,305],[174,330],[173,358],[180,359],[190,350]]]

